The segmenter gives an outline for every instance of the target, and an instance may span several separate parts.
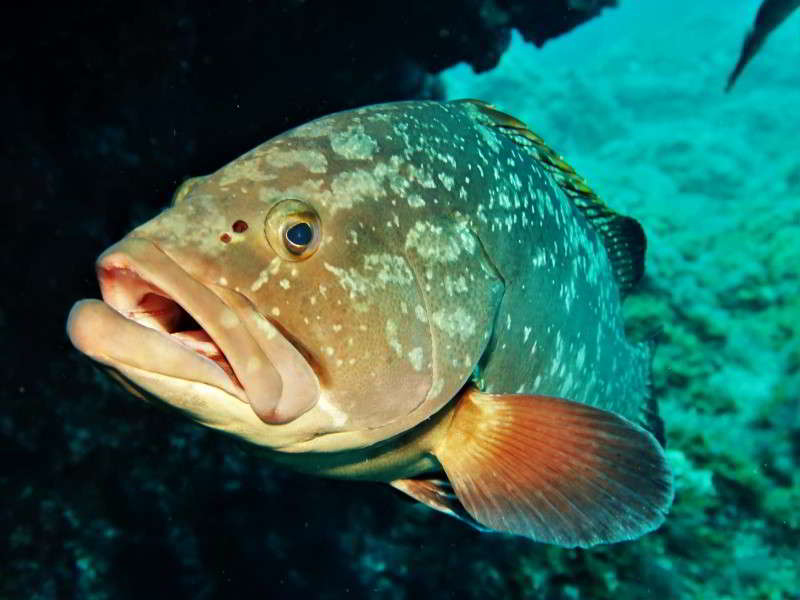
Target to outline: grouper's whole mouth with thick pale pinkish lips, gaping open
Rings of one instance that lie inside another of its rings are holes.
[[[217,388],[269,424],[313,405],[313,394],[285,398],[292,386],[251,335],[244,321],[252,316],[237,314],[152,242],[126,238],[98,258],[96,270],[103,300],[76,303],[67,321],[78,350],[128,378],[138,370]]]

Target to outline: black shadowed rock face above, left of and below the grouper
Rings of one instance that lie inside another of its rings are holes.
[[[173,597],[297,596],[313,591],[311,577],[354,598],[372,593],[353,560],[372,551],[361,527],[385,538],[404,505],[387,508],[372,488],[355,504],[351,488],[323,481],[283,494],[297,488],[293,476],[230,440],[110,383],[98,391],[69,351],[63,315],[72,299],[97,295],[97,252],[186,176],[321,114],[436,97],[431,73],[458,61],[491,68],[512,27],[541,45],[613,2],[570,4],[174,1],[52,5],[6,19],[0,173],[14,216],[0,237],[0,596],[128,598],[156,586]],[[370,497],[386,514],[361,508]],[[443,527],[468,545],[471,532]],[[332,551],[306,573],[315,548]],[[419,593],[431,595],[440,559],[434,547],[419,554],[398,585],[419,576]]]

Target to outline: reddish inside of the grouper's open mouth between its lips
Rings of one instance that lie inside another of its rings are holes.
[[[98,265],[103,300],[124,317],[169,337],[216,363],[244,389],[219,344],[186,308],[129,267]]]

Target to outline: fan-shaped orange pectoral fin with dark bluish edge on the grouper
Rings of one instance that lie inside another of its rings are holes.
[[[434,454],[464,509],[498,531],[566,547],[639,537],[672,503],[655,438],[584,404],[468,389]]]

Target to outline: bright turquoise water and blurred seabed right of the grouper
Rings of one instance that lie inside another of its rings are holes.
[[[444,75],[448,97],[524,120],[648,236],[626,310],[634,336],[664,327],[677,496],[642,540],[529,557],[534,585],[569,581],[558,597],[800,593],[800,13],[723,93],[759,4],[623,2],[541,50],[515,36],[489,73]]]

